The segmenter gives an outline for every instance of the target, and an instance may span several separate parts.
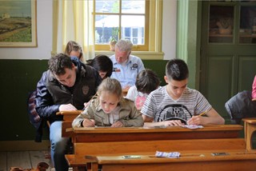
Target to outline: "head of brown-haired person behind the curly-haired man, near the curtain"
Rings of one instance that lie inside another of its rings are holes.
[[[82,56],[82,47],[78,44],[78,42],[67,42],[64,54],[67,54],[70,57],[77,57],[81,62],[84,62]]]

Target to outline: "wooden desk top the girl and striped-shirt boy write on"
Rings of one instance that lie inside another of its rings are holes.
[[[70,128],[72,141],[152,141],[182,139],[236,138],[242,131],[242,125],[204,125],[202,129],[187,129],[181,126],[166,128],[122,127],[122,128]]]

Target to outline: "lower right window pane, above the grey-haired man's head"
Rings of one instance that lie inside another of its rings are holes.
[[[130,22],[133,21],[133,22]],[[129,39],[134,45],[144,45],[145,17],[140,15],[124,15],[121,23],[122,39]]]

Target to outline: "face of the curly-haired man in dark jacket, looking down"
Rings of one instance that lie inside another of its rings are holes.
[[[74,82],[76,79],[76,70],[75,66],[73,64],[72,69],[65,69],[66,73],[62,75],[56,75],[54,74],[55,78],[60,82],[62,85],[66,85],[68,87],[74,86]]]

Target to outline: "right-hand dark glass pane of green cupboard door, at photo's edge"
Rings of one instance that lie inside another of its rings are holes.
[[[240,43],[256,43],[256,6],[241,6]]]

